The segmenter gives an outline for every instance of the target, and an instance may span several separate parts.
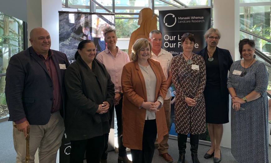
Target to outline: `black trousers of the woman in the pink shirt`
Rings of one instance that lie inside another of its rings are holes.
[[[118,105],[112,105],[109,112],[110,112],[110,119],[109,119],[109,126],[111,126],[112,123],[112,116],[113,116],[113,112],[114,112],[114,107],[116,110],[116,118],[117,118],[117,136],[118,136],[118,146],[119,146],[119,156],[123,157],[127,155],[126,152],[126,147],[123,146],[122,143],[122,118],[121,118],[121,114],[122,114],[122,99],[120,100]],[[105,135],[105,146],[104,146],[104,150],[102,153],[102,160],[106,160],[107,159],[107,148],[108,148],[108,137],[109,137],[109,133]]]

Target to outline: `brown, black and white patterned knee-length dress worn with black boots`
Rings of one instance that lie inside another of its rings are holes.
[[[199,70],[192,68],[198,65]],[[176,88],[175,100],[175,131],[181,134],[201,134],[206,132],[204,87],[206,83],[206,68],[204,59],[193,53],[192,64],[188,65],[182,54],[172,59],[172,81]],[[184,102],[185,97],[197,101],[190,107]]]

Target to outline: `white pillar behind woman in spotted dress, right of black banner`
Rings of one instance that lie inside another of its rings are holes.
[[[214,1],[214,28],[221,32],[218,47],[228,49],[233,61],[239,60],[239,0]],[[231,102],[231,99],[229,100]],[[231,104],[229,104],[231,106]],[[223,125],[224,132],[221,141],[222,147],[231,148],[231,108],[229,109],[230,122]]]

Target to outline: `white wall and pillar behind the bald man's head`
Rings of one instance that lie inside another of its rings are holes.
[[[28,40],[33,28],[43,27],[48,30],[52,40],[51,49],[54,50],[59,50],[58,11],[61,10],[61,0],[11,0],[0,5],[0,12],[27,22]]]

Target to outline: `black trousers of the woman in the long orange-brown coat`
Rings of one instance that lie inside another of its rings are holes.
[[[131,149],[133,163],[151,163],[155,150],[154,143],[156,140],[156,135],[156,120],[145,120],[142,139],[142,151]]]

